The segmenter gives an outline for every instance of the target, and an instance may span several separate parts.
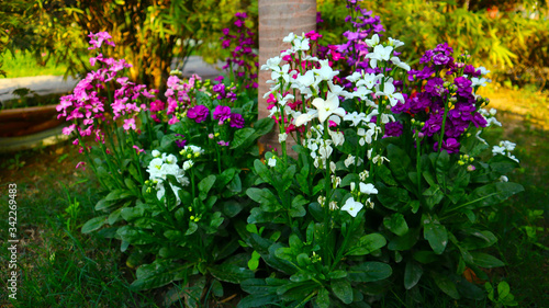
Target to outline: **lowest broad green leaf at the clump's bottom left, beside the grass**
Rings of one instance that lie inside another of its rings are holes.
[[[186,264],[172,261],[155,261],[137,267],[137,278],[130,285],[132,290],[145,290],[165,286],[171,282],[180,281],[187,276]]]

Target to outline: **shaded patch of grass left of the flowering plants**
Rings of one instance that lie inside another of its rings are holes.
[[[0,216],[8,217],[8,184],[18,185],[20,266],[14,307],[157,307],[150,294],[130,290],[134,271],[124,264],[120,242],[94,233],[80,233],[81,225],[97,216],[98,183],[74,167],[80,156],[71,145],[0,157]],[[57,152],[56,152],[57,150]],[[64,153],[60,153],[63,151]],[[68,156],[67,156],[68,153]],[[23,163],[24,162],[24,163]],[[8,169],[13,166],[12,169]],[[70,192],[70,202],[64,185]],[[72,204],[72,214],[67,207]],[[75,206],[78,204],[78,206]],[[71,218],[71,224],[67,220]],[[0,219],[7,238],[8,219]],[[9,243],[0,256],[7,264]],[[0,306],[8,304],[8,271],[0,272]],[[10,307],[10,306],[7,306]]]

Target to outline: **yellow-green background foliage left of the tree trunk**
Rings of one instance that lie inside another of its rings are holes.
[[[22,49],[33,52],[37,60],[46,53],[56,62],[67,65],[66,75],[75,76],[91,69],[86,60],[85,36],[107,31],[122,44],[105,50],[104,56],[125,55],[134,64],[130,71],[132,79],[156,88],[166,83],[172,60],[184,61],[198,48],[209,55],[209,60],[221,58],[217,37],[232,23],[235,12],[249,9],[248,13],[257,16],[257,7],[234,0],[15,3],[19,7],[2,4],[5,14],[11,14],[14,8],[21,11],[5,20],[4,26],[13,39],[10,47],[24,46]],[[29,20],[33,22],[22,23]],[[247,23],[257,28],[253,20]]]

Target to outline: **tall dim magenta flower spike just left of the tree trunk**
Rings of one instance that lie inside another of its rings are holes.
[[[246,19],[248,15],[246,13],[236,13],[236,21],[234,25],[236,26],[236,35],[231,34],[231,28],[223,28],[222,47],[224,49],[229,48],[235,43],[234,49],[231,52],[231,57],[226,59],[226,65],[223,69],[227,69],[233,65],[235,78],[244,81],[244,87],[256,88],[257,84],[257,68],[259,62],[257,61],[257,54],[254,53],[253,48],[256,45],[254,37],[256,34],[251,32],[246,26]]]

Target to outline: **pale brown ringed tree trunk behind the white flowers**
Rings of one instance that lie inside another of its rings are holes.
[[[312,30],[316,30],[316,0],[259,0],[259,67],[266,64],[267,59],[290,48],[289,43],[282,42],[290,32],[301,35]],[[270,71],[259,71],[260,118],[269,115],[267,100],[264,99],[264,94],[269,91],[269,84],[265,82],[269,79]],[[269,146],[279,148],[278,132],[278,127],[274,127],[273,133],[260,139],[260,145],[267,146],[267,150]],[[288,148],[291,146],[289,142]]]

